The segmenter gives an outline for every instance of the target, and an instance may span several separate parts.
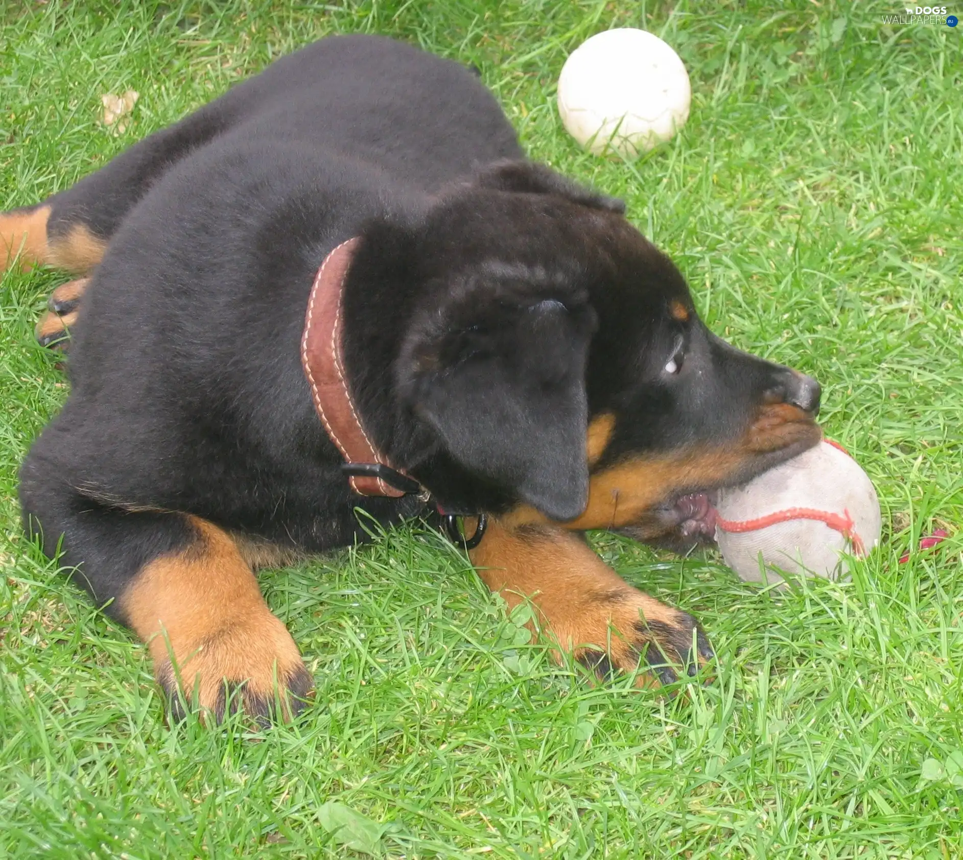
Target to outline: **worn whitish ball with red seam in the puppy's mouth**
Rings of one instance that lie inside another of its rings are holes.
[[[794,574],[845,576],[843,554],[866,556],[881,526],[869,476],[827,441],[741,487],[721,490],[716,503],[722,558],[754,582],[781,582],[772,565]]]

